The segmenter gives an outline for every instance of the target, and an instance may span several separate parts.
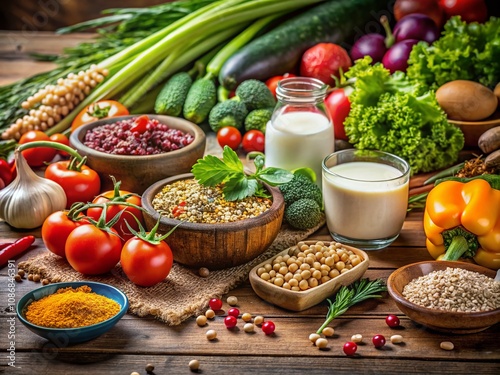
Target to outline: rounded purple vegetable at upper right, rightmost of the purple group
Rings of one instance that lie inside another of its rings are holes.
[[[396,43],[407,39],[423,40],[431,44],[439,38],[439,29],[425,14],[408,14],[401,18],[393,30]]]

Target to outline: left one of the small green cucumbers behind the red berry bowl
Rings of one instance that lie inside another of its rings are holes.
[[[155,112],[159,115],[178,117],[193,80],[187,72],[174,74],[156,97]]]

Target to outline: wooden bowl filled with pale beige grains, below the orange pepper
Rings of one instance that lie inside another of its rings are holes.
[[[477,285],[470,287],[470,282],[466,281],[468,280],[467,275],[470,276],[471,274],[462,273],[461,270],[474,272],[472,280],[476,280]],[[431,273],[433,273],[433,281],[430,281],[431,276],[429,275]],[[455,275],[452,276],[453,274]],[[398,308],[416,323],[439,332],[469,334],[483,331],[499,323],[500,308],[497,306],[497,308],[488,311],[475,312],[452,311],[452,309],[454,306],[457,308],[459,304],[461,306],[462,303],[465,304],[466,309],[471,309],[472,305],[470,303],[474,300],[474,297],[468,293],[474,288],[480,290],[482,294],[480,299],[483,299],[488,304],[496,300],[498,305],[500,301],[500,283],[493,280],[495,274],[496,272],[491,269],[472,263],[426,261],[409,264],[394,271],[387,280],[387,289]],[[419,279],[422,277],[424,278]],[[452,277],[453,280],[451,280]],[[442,283],[445,289],[439,287],[441,281],[437,280],[441,279],[444,280]],[[415,280],[420,280],[420,283]],[[415,282],[414,287],[405,291],[405,287],[412,281]],[[457,283],[461,285],[458,286]],[[452,289],[450,289],[451,286],[453,286]],[[489,286],[492,286],[494,290],[490,290]],[[458,292],[453,296],[453,291],[459,287],[463,288],[464,293],[467,293],[462,302],[458,302],[458,297],[456,297]],[[430,296],[434,298],[433,301],[429,301]],[[434,307],[423,306],[430,303],[434,303]],[[467,307],[467,304],[469,304],[469,307]],[[459,309],[462,310],[462,307]]]

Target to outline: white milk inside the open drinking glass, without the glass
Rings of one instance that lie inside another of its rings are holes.
[[[338,164],[330,171],[337,175],[323,174],[330,232],[360,240],[388,238],[400,232],[408,206],[408,180],[398,179],[403,176],[401,171],[372,162]]]

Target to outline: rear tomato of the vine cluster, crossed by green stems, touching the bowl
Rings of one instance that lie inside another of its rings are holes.
[[[136,206],[141,206],[141,197],[133,194],[129,191],[119,190],[118,196],[115,196],[114,190],[106,191],[102,194],[99,194],[94,200],[93,203],[106,203],[106,202],[127,202],[132,203]],[[106,211],[106,222],[115,217],[120,211],[123,213],[120,216],[120,219],[113,225],[113,228],[117,231],[121,238],[124,241],[127,241],[134,237],[134,234],[130,232],[125,222],[136,231],[139,230],[139,224],[135,221],[135,216],[141,224],[144,224],[144,218],[142,216],[142,211],[135,207],[128,207],[125,205],[117,204],[108,206]],[[87,210],[87,216],[94,220],[99,220],[101,216],[102,208],[100,207],[91,207]]]

